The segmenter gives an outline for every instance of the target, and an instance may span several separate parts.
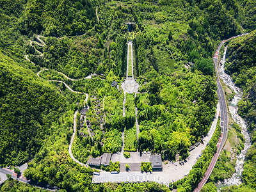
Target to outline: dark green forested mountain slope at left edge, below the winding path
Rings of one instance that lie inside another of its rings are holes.
[[[65,100],[1,52],[0,58],[0,164],[17,165],[38,152]]]

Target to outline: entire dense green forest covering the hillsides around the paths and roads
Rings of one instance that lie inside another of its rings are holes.
[[[156,183],[92,184],[93,170],[79,166],[68,155],[74,111],[82,108],[85,95],[70,92],[63,83],[45,80],[61,80],[72,90],[90,94],[88,120],[95,136],[90,140],[83,136],[88,136],[85,129],[77,130],[72,151],[79,161],[85,163],[90,155],[120,150],[123,129],[127,151],[164,151],[170,159],[175,154],[186,158],[189,145],[207,134],[216,108],[212,53],[222,39],[255,29],[255,8],[253,0],[0,1],[0,165],[33,159],[24,175],[63,191],[170,191]],[[127,21],[136,22],[132,33],[126,32]],[[31,47],[29,40],[36,40],[37,35],[45,36],[41,38],[45,45],[32,43]],[[135,98],[127,95],[126,116],[122,117],[124,94],[110,84],[117,81],[120,85],[124,78],[127,40],[134,43],[134,76],[140,93]],[[228,72],[244,90],[239,113],[249,124],[253,143],[254,41],[255,32],[230,44],[227,63]],[[25,59],[26,54],[35,65]],[[189,61],[195,65],[184,68]],[[49,70],[39,79],[36,73],[42,68]],[[70,81],[54,70],[73,79],[93,73],[100,77]],[[104,133],[95,114],[95,100],[102,109],[103,99]],[[138,142],[135,106],[140,123]],[[195,188],[216,150],[218,134],[216,131],[188,177],[171,188]],[[244,166],[246,189],[255,188],[254,154],[255,144]],[[228,160],[224,156],[220,159]],[[225,171],[231,166],[227,164]],[[217,179],[221,178],[212,178]],[[204,190],[212,188],[209,183]],[[13,180],[4,183],[0,191],[20,189],[35,191]]]

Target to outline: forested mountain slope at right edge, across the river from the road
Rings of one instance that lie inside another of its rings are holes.
[[[256,188],[256,31],[228,44],[227,72],[237,86],[243,88],[243,99],[238,103],[239,114],[246,120],[252,147],[246,154],[244,184]]]

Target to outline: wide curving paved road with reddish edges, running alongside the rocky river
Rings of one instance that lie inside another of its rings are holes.
[[[217,76],[217,80],[216,80],[217,81],[217,93],[218,93],[218,99],[219,99],[219,102],[220,102],[221,135],[220,135],[220,138],[219,138],[218,143],[217,143],[217,152],[212,157],[211,164],[209,165],[207,171],[205,172],[205,175],[204,175],[203,179],[200,181],[200,183],[198,184],[198,186],[194,190],[194,192],[199,192],[202,189],[202,187],[204,186],[204,184],[207,182],[207,180],[209,179],[209,177],[212,173],[212,170],[213,170],[213,168],[216,164],[216,161],[218,159],[218,156],[220,155],[221,149],[223,148],[223,146],[225,145],[225,142],[227,140],[228,111],[227,111],[227,103],[226,103],[226,99],[225,99],[225,93],[224,93],[223,88],[221,86],[220,79],[219,79],[219,74],[218,74],[219,52],[220,52],[220,49],[221,49],[222,45],[225,44],[225,42],[227,42],[228,40],[230,40],[232,38],[237,38],[239,36],[244,36],[244,35],[248,35],[248,33],[243,33],[242,35],[232,36],[231,38],[228,38],[227,40],[223,40],[221,42],[221,44],[219,45],[218,49],[216,50],[216,52],[214,54],[214,57],[213,57],[213,62],[214,62],[214,66],[215,66],[216,76]]]

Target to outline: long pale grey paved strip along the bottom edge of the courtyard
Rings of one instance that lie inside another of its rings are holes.
[[[141,172],[120,172],[111,174],[109,172],[100,172],[95,175],[93,173],[92,182],[152,182],[155,181],[155,177],[152,173],[141,173]]]

